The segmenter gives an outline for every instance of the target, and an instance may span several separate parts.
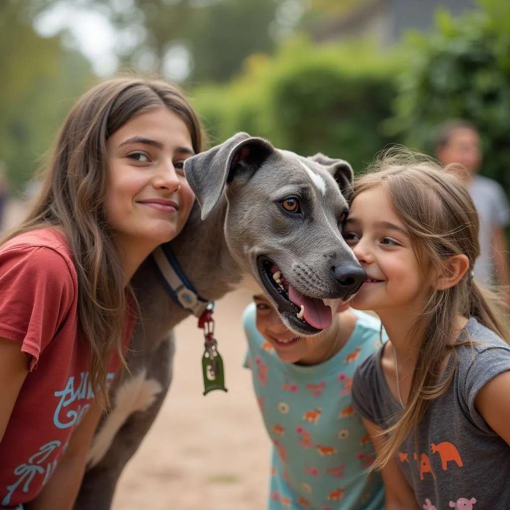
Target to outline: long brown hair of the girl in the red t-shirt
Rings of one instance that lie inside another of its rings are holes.
[[[184,94],[162,81],[116,78],[96,85],[71,109],[45,168],[34,207],[7,239],[36,228],[59,227],[78,272],[78,320],[90,344],[90,380],[103,407],[111,352],[122,356],[122,330],[131,287],[107,223],[107,141],[133,117],[166,107],[187,125],[193,149],[201,150],[200,123]],[[6,241],[5,239],[4,241]]]

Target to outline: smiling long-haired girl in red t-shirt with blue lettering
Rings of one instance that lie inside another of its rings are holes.
[[[136,315],[129,281],[193,203],[200,126],[176,87],[113,79],[69,113],[0,245],[0,507],[66,510]]]

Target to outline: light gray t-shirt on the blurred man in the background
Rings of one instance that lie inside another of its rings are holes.
[[[494,283],[494,262],[492,260],[492,231],[504,228],[510,222],[510,209],[505,192],[499,183],[481,175],[475,175],[469,187],[471,198],[480,218],[480,256],[473,271],[482,287]]]

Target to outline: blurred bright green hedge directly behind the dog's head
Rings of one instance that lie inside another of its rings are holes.
[[[246,131],[302,155],[344,158],[360,171],[399,141],[381,127],[399,66],[396,55],[381,55],[368,43],[314,46],[293,39],[274,57],[251,56],[231,84],[190,95],[212,143]]]

